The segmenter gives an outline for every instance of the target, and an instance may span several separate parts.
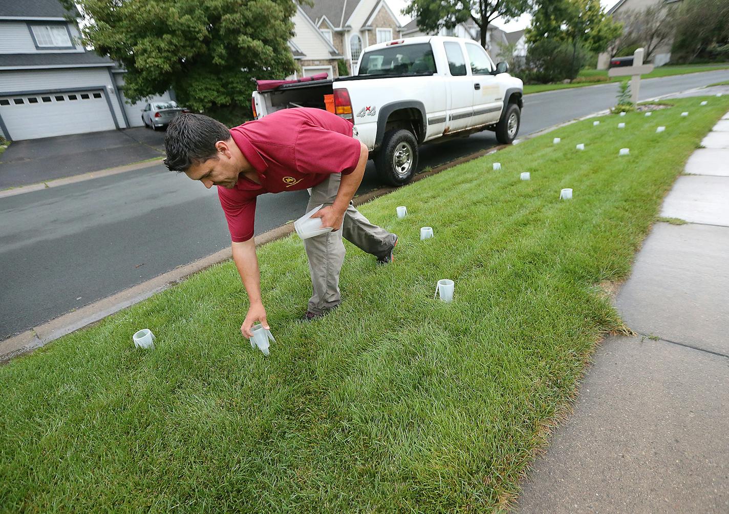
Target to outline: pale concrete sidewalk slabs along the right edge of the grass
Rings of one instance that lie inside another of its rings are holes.
[[[521,513],[729,513],[729,113],[666,197]]]

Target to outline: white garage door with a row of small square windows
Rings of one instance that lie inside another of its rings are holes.
[[[98,90],[0,96],[0,116],[15,141],[116,129]]]

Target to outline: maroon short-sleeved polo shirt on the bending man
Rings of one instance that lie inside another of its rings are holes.
[[[353,172],[361,147],[352,127],[329,111],[296,107],[230,129],[260,180],[257,184],[241,174],[234,188],[218,186],[230,239],[253,237],[258,195],[313,188],[329,174]]]

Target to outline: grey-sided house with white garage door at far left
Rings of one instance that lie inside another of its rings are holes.
[[[144,103],[125,103],[124,70],[79,43],[78,15],[58,0],[0,0],[0,132],[6,139],[142,125]]]

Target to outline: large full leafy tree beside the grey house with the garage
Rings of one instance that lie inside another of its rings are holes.
[[[293,0],[61,0],[82,11],[82,38],[127,70],[131,101],[174,89],[224,123],[250,117],[254,79],[295,70]]]

